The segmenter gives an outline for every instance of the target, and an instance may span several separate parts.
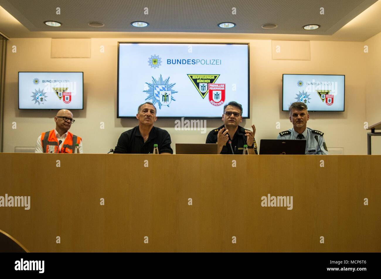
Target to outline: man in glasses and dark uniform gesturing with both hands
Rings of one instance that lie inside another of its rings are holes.
[[[253,131],[250,131],[238,125],[242,122],[242,106],[239,103],[226,104],[222,120],[224,125],[210,131],[206,143],[217,143],[218,154],[242,154],[244,144],[247,144],[249,154],[258,154],[255,126],[252,125]]]

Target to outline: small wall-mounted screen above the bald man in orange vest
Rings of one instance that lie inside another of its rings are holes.
[[[83,72],[19,72],[19,109],[83,109]]]

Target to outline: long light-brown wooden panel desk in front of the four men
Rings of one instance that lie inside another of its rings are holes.
[[[30,196],[29,210],[0,207],[0,229],[30,252],[381,252],[380,167],[376,155],[0,153],[0,199]]]

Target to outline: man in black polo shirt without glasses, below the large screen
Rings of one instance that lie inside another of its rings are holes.
[[[120,135],[114,153],[148,154],[158,145],[159,154],[173,154],[171,136],[166,130],[154,127],[156,107],[147,102],[138,107],[139,125]]]

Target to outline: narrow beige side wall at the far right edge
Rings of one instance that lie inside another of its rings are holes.
[[[365,45],[368,46],[368,53],[363,55],[367,67],[365,119],[370,126],[381,122],[381,33],[366,40],[363,47]],[[381,136],[372,137],[372,154],[381,154]]]

